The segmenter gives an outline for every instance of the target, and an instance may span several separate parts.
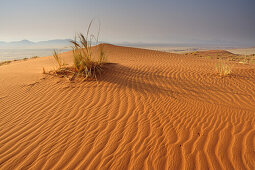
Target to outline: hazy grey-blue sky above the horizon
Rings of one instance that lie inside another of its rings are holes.
[[[73,38],[96,18],[100,39],[112,43],[255,45],[254,7],[254,0],[0,0],[0,41]]]

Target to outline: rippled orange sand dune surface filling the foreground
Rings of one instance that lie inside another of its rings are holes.
[[[105,51],[98,83],[43,75],[52,57],[0,67],[0,169],[255,169],[254,65]]]

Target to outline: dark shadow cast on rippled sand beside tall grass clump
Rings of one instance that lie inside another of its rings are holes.
[[[162,94],[173,98],[175,98],[175,93],[178,93],[164,87],[165,83],[170,82],[166,76],[117,63],[106,64],[104,73],[98,80],[114,84],[117,88],[132,89],[138,93]]]

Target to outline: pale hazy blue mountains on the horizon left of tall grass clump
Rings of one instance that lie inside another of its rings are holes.
[[[53,49],[70,48],[70,39],[56,39],[48,41],[33,42],[29,40],[4,42],[0,41],[0,49]]]

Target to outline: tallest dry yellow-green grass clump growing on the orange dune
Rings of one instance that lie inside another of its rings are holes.
[[[84,79],[97,79],[97,75],[103,72],[103,65],[106,62],[103,45],[98,45],[98,37],[90,34],[90,28],[93,20],[90,22],[86,35],[79,33],[74,40],[71,40],[73,51],[73,67],[63,67],[64,63],[59,54],[54,51],[53,56],[59,65],[57,74],[66,75],[72,73],[73,80],[76,76]],[[100,28],[100,27],[99,27]],[[95,46],[92,46],[92,42]]]

